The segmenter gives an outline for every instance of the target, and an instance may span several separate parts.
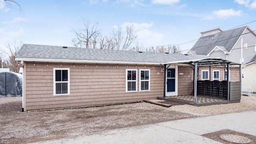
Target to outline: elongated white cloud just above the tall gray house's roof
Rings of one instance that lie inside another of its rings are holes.
[[[204,16],[203,19],[205,20],[212,20],[214,18],[217,19],[227,19],[227,18],[231,18],[234,16],[242,16],[243,15],[243,11],[242,10],[233,10],[231,9],[227,9],[227,10],[214,10],[212,12],[212,15],[209,16]]]

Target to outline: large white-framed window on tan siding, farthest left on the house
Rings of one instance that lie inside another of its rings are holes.
[[[53,95],[70,94],[70,69],[53,68]]]

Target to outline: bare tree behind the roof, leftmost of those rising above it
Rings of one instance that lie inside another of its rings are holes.
[[[76,47],[96,48],[98,40],[100,40],[100,30],[98,29],[98,22],[94,25],[89,20],[82,20],[84,28],[80,31],[73,29],[76,38],[72,40]]]

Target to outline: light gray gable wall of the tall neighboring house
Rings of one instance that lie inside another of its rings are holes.
[[[243,35],[243,43],[248,44],[248,48],[243,48],[243,58],[244,64],[250,62],[252,58],[255,56],[256,52],[254,50],[254,45],[256,44],[256,36],[252,34],[250,30],[246,29]],[[245,34],[248,33],[248,34]],[[241,38],[238,40],[234,48],[231,50],[230,54],[228,54],[228,59],[231,62],[240,63],[241,58]]]

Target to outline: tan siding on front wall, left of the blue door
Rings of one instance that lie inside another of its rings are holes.
[[[164,94],[164,72],[160,66],[35,64],[26,63],[26,110],[137,102]],[[70,68],[70,95],[53,96],[53,68]],[[137,92],[125,92],[126,69],[150,69],[150,91],[139,92],[137,84]]]

